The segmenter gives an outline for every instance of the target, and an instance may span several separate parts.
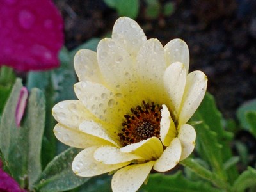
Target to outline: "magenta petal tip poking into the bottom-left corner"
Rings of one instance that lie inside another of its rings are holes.
[[[2,161],[0,159],[0,191],[5,192],[24,192],[19,184],[2,169]]]

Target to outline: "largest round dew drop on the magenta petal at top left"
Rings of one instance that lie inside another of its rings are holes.
[[[28,10],[21,10],[18,19],[20,26],[24,29],[30,29],[35,23],[35,15]]]

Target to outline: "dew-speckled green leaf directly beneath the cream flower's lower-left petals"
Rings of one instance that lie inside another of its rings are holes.
[[[46,166],[44,172],[35,184],[38,191],[67,191],[74,189],[90,178],[78,177],[71,168],[74,157],[79,152],[76,148],[68,148]]]

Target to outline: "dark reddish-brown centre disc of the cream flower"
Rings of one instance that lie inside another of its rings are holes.
[[[160,137],[161,109],[159,105],[142,102],[142,106],[131,109],[130,115],[124,115],[122,132],[118,133],[121,143],[126,146],[147,140],[152,136]]]

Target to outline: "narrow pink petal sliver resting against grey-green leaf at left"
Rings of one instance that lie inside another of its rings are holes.
[[[28,89],[26,87],[22,87],[20,90],[19,100],[16,106],[16,111],[15,111],[15,123],[17,127],[20,127],[20,122],[22,120],[24,111],[26,109],[27,99],[28,99]]]

